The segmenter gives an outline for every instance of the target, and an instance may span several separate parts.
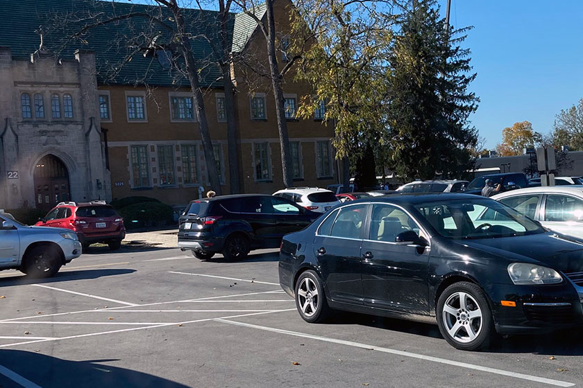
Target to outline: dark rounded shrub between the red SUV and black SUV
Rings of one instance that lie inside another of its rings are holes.
[[[174,211],[170,206],[159,201],[130,204],[119,209],[118,213],[124,218],[126,229],[164,227],[174,224]]]

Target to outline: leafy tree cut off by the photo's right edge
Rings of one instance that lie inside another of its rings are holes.
[[[568,145],[571,150],[583,150],[583,98],[569,109],[561,109],[552,130],[555,148]]]

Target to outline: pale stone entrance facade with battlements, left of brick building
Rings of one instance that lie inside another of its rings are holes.
[[[66,167],[67,199],[111,199],[97,101],[92,52],[76,51],[70,60],[36,52],[21,60],[0,48],[0,208],[49,205],[35,193],[35,167],[47,155]]]

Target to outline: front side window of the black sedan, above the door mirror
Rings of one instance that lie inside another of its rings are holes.
[[[369,231],[370,240],[394,243],[399,233],[410,230],[419,236],[419,226],[405,211],[386,204],[373,206]]]

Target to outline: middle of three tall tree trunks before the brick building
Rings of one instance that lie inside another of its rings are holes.
[[[237,128],[237,121],[235,120],[235,88],[233,87],[233,79],[230,72],[230,41],[228,33],[229,13],[223,1],[219,1],[219,12],[221,15],[221,72],[223,73],[223,85],[225,87],[225,115],[227,118],[227,146],[228,146],[228,160],[229,160],[229,186],[231,194],[239,194],[242,192],[241,179],[239,177],[239,152],[237,148],[237,141],[239,139],[239,131]]]

